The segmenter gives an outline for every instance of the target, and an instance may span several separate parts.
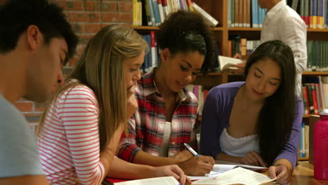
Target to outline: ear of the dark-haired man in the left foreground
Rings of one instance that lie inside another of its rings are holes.
[[[41,34],[39,27],[36,27],[35,25],[29,25],[29,27],[27,27],[27,42],[29,48],[32,50],[35,50],[41,45],[41,43],[43,43],[43,35]]]

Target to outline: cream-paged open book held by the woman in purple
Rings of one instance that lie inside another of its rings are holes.
[[[270,184],[273,181],[275,181],[275,179],[270,179],[270,177],[264,174],[253,172],[252,170],[247,170],[242,167],[237,167],[233,170],[228,170],[222,174],[219,174],[217,177],[215,177],[215,179],[201,179],[198,181],[193,181],[193,185],[262,185]]]

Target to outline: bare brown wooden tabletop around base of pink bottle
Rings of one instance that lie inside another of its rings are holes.
[[[292,176],[292,185],[328,185],[328,180],[317,180],[313,177],[313,165],[308,161],[300,161]]]

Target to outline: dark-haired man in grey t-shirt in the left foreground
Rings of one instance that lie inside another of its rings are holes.
[[[46,0],[8,0],[0,22],[0,184],[48,184],[33,131],[14,104],[53,95],[78,38],[62,8]]]

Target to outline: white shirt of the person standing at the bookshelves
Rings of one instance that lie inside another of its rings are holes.
[[[261,43],[280,40],[294,53],[296,64],[296,95],[301,95],[302,73],[306,69],[308,53],[306,50],[306,24],[299,14],[282,0],[266,13],[261,30]]]

